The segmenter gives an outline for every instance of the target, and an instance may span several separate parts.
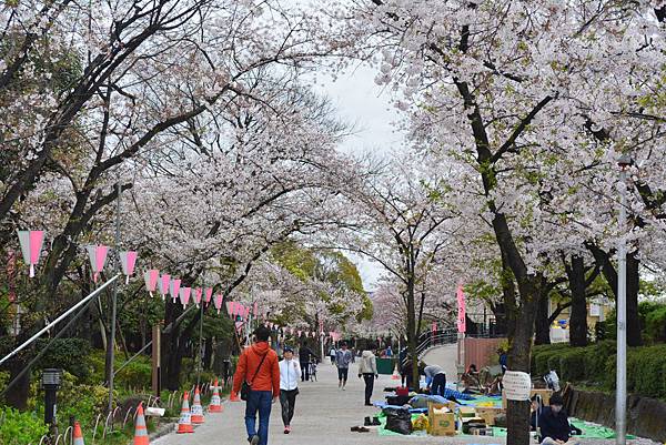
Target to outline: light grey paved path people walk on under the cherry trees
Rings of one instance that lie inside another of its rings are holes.
[[[327,362],[327,360],[326,360]],[[352,433],[350,428],[362,425],[365,416],[377,414],[377,408],[363,404],[363,381],[357,377],[356,365],[350,370],[346,391],[337,388],[337,372],[331,364],[321,364],[319,382],[302,382],[292,422],[293,432],[283,434],[280,403],[273,405],[270,425],[270,445],[355,445],[355,444],[503,444],[498,437],[380,437],[376,432]],[[390,376],[380,376],[375,382],[373,400],[383,400],[383,388],[395,386]],[[224,413],[208,414],[205,424],[194,434],[171,434],[154,441],[153,445],[243,445],[246,444],[243,421],[244,403],[224,403]]]

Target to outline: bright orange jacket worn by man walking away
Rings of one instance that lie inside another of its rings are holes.
[[[263,356],[266,356],[259,373],[256,368]],[[256,373],[256,377],[254,374]],[[252,382],[252,378],[254,381]],[[278,354],[271,350],[266,342],[258,342],[246,347],[236,365],[236,372],[233,376],[233,391],[239,393],[243,380],[252,385],[253,391],[272,391],[273,397],[280,395],[280,366],[278,364]]]

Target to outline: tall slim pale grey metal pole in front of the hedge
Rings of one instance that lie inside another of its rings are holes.
[[[619,215],[617,225],[619,237],[617,242],[617,363],[615,394],[615,443],[626,444],[626,411],[627,411],[627,169],[632,159],[623,154],[617,161],[619,165]]]

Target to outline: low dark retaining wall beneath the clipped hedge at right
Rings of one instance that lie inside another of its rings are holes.
[[[578,391],[568,385],[563,392],[571,416],[615,427],[615,395]],[[666,402],[629,396],[627,398],[627,433],[666,442]]]

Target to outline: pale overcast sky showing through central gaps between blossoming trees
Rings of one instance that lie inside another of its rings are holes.
[[[341,150],[347,153],[389,155],[391,150],[400,149],[404,135],[394,130],[393,122],[398,119],[397,110],[389,100],[389,92],[374,82],[375,69],[357,67],[341,74],[336,81],[320,77],[315,89],[327,95],[336,107],[340,117],[354,124],[354,134],[347,138]],[[379,277],[384,273],[376,262],[357,255],[347,256],[356,263],[365,290],[374,290]]]

